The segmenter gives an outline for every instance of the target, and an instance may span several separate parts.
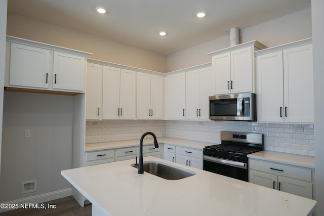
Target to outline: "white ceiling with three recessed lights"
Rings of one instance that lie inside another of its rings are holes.
[[[310,7],[311,0],[8,0],[8,11],[169,55]],[[104,7],[107,14],[96,12]],[[197,12],[205,18],[195,17]],[[166,36],[159,36],[166,31]]]

